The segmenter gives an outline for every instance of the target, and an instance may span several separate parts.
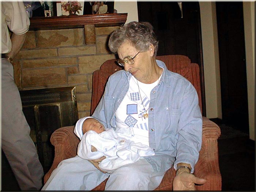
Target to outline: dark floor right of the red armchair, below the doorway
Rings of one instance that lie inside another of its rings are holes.
[[[255,141],[237,128],[218,125],[222,191],[255,191]]]

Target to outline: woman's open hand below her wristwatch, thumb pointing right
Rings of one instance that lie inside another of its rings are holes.
[[[173,180],[173,191],[195,191],[195,184],[202,185],[207,180],[198,178],[187,170],[179,169]]]

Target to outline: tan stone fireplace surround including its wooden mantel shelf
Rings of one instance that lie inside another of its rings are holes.
[[[115,55],[109,34],[127,14],[31,18],[30,31],[14,60],[19,90],[76,87],[79,118],[90,115],[92,74]]]

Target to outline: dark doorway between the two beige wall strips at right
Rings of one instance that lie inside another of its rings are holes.
[[[222,120],[249,133],[242,2],[216,2]]]

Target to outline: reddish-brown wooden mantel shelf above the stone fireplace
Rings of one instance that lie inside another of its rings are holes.
[[[83,28],[86,25],[95,27],[121,26],[126,22],[127,13],[101,15],[75,15],[30,18],[30,30]]]

